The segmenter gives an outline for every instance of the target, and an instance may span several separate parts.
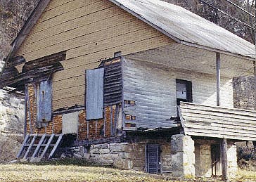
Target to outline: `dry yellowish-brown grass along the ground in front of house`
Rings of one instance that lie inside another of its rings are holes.
[[[72,164],[0,164],[0,181],[122,181],[122,182],[166,182],[177,181],[170,176],[146,174],[139,171],[125,171],[105,167],[87,167]],[[187,181],[219,181],[200,178]],[[233,181],[256,181],[255,171],[241,170]]]

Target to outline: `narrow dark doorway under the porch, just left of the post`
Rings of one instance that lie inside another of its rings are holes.
[[[212,155],[212,176],[221,176],[221,162],[220,162],[220,145],[211,145],[211,155]]]

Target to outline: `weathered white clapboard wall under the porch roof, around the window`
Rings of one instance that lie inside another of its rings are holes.
[[[136,104],[124,105],[124,113],[136,119],[124,122],[134,123],[137,128],[170,126],[167,119],[177,116],[176,79],[192,82],[193,103],[216,105],[215,75],[167,68],[130,57],[123,63],[124,100],[134,100]],[[221,105],[233,108],[231,78],[222,77],[221,96]]]

